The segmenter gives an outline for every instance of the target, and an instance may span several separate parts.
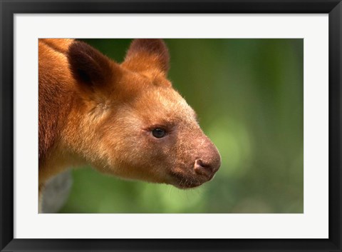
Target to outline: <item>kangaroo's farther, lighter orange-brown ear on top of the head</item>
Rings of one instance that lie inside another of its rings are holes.
[[[134,39],[125,56],[123,66],[134,71],[169,70],[169,51],[162,39]]]

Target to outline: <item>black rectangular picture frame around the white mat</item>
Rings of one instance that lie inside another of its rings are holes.
[[[342,251],[341,0],[1,0],[1,251]],[[323,13],[329,32],[328,239],[16,239],[14,238],[14,14]]]

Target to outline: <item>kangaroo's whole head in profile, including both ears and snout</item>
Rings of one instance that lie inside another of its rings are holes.
[[[66,150],[104,173],[192,188],[219,169],[217,148],[167,80],[160,39],[135,39],[118,64],[81,41],[68,49],[76,99]]]

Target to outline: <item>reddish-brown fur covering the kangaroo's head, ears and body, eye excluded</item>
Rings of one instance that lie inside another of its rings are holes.
[[[166,79],[160,39],[136,39],[118,64],[73,39],[39,39],[39,187],[90,163],[122,178],[190,188],[212,178],[217,148]],[[162,138],[152,136],[164,129]]]

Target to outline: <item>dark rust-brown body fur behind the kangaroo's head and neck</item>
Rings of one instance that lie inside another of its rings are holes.
[[[72,40],[39,39],[39,164],[46,160],[70,110],[73,77],[65,53]],[[63,107],[63,109],[61,109]]]

